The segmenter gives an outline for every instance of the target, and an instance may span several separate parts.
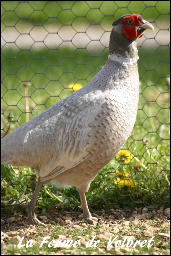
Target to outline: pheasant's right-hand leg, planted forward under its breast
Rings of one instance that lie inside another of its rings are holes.
[[[92,217],[88,209],[85,193],[82,191],[78,191],[78,192],[79,192],[81,204],[82,204],[80,208],[83,209],[83,216],[80,217],[78,220],[84,219],[86,222],[89,222],[89,223],[93,223],[94,221],[97,222],[98,219],[95,217]]]

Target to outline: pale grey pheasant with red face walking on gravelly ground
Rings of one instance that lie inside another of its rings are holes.
[[[127,141],[139,99],[136,39],[153,26],[141,15],[124,15],[113,22],[109,57],[83,88],[75,91],[2,139],[2,164],[28,166],[38,182],[27,208],[31,224],[42,184],[77,186],[83,217],[92,217],[85,192],[90,182]]]

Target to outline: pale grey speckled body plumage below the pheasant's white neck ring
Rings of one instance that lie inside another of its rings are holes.
[[[78,164],[93,179],[128,139],[137,104],[137,64],[109,59],[84,88],[6,136],[2,158],[36,168],[42,181]]]

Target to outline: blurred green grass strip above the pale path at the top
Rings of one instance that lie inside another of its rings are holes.
[[[142,14],[148,21],[154,21],[160,14],[169,13],[169,1],[58,1],[58,3],[2,1],[1,8],[2,28],[14,25],[18,28],[31,24],[45,27],[72,24],[74,27],[80,23],[100,23],[103,26],[111,22],[113,15],[118,19],[129,13]],[[164,19],[169,21],[169,16],[165,15]]]

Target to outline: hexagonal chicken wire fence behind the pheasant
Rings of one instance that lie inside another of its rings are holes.
[[[108,58],[114,20],[137,13],[155,28],[137,40],[140,100],[133,132],[91,183],[91,211],[169,202],[168,12],[168,1],[2,1],[2,137],[97,74]],[[36,182],[30,168],[2,166],[4,212],[23,210]],[[77,211],[79,205],[76,188],[48,184],[36,210]]]

